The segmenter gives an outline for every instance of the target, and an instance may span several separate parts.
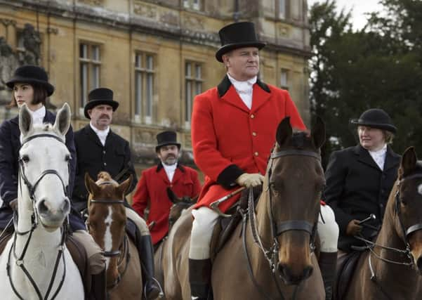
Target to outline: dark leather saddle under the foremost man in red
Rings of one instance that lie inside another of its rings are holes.
[[[253,188],[253,203],[256,204],[262,192],[262,185]],[[244,190],[240,195],[239,201],[231,207],[227,214],[231,214],[230,218],[220,216],[214,226],[213,237],[211,238],[211,261],[213,261],[218,252],[223,249],[225,243],[234,233],[237,225],[242,221],[242,214],[248,208],[249,190]]]

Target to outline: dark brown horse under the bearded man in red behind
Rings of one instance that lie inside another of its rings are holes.
[[[177,195],[171,190],[171,188],[167,188],[167,195],[169,195],[170,201],[173,205],[170,208],[169,214],[169,232],[173,227],[173,224],[180,218],[180,216],[189,209],[193,204],[197,202],[198,197],[194,197],[193,199],[187,196],[184,197],[177,197]],[[154,251],[154,266],[155,266],[155,278],[159,281],[161,287],[164,287],[164,273],[163,273],[163,253],[166,251],[168,243],[167,237],[164,237],[161,240],[159,246]]]

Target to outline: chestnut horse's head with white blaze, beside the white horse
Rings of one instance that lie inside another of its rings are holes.
[[[131,186],[132,176],[121,184],[114,181],[110,174],[103,171],[98,174],[98,181],[85,174],[88,190],[88,231],[103,249],[106,256],[107,282],[117,278],[117,256],[124,247],[126,228],[126,209],[124,196]],[[112,266],[112,268],[109,268]],[[112,272],[109,275],[108,272]]]

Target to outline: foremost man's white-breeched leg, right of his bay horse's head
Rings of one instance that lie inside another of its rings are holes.
[[[324,222],[321,219],[324,220]],[[321,243],[321,252],[337,252],[338,225],[334,211],[326,205],[321,205],[321,214],[318,217],[318,235]]]

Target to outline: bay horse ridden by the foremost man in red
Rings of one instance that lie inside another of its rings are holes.
[[[319,200],[325,178],[319,148],[321,119],[311,131],[295,132],[289,117],[277,127],[263,193],[213,260],[214,299],[325,299],[313,249]],[[191,214],[183,214],[169,234],[163,256],[166,299],[191,299],[188,252]]]

